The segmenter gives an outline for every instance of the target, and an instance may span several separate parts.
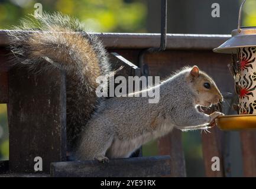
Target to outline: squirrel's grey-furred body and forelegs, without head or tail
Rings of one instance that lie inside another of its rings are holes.
[[[76,158],[99,159],[127,158],[138,147],[152,139],[166,135],[173,128],[206,129],[216,116],[206,115],[196,109],[200,95],[194,89],[195,81],[190,81],[191,67],[186,67],[160,84],[160,101],[148,103],[148,97],[114,97],[108,99],[83,128]],[[222,100],[218,88],[209,76],[218,101]],[[215,102],[216,99],[210,99]]]

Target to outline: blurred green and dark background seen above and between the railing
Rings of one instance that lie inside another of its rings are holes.
[[[160,0],[0,0],[0,28],[17,25],[19,19],[34,14],[34,4],[41,3],[43,11],[69,14],[93,32],[160,32]],[[210,5],[221,5],[221,18],[210,16]],[[168,1],[168,32],[229,34],[236,28],[239,0]],[[245,4],[243,23],[256,25],[256,1]],[[183,133],[187,176],[203,176],[200,131]],[[7,106],[0,105],[0,160],[8,159]],[[144,155],[157,155],[155,141],[144,146]],[[238,174],[239,175],[239,174]]]

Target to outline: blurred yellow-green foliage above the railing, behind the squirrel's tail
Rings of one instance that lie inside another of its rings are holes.
[[[79,18],[95,32],[145,32],[147,8],[143,1],[122,0],[11,0],[0,1],[0,27],[18,24],[21,17],[34,14],[34,4],[44,11],[60,11]]]

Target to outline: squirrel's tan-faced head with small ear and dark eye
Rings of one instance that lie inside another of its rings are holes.
[[[212,78],[197,66],[193,66],[188,76],[189,85],[195,90],[196,105],[211,106],[223,101],[221,92]]]

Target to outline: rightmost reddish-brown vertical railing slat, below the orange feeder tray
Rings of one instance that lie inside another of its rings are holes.
[[[256,177],[256,131],[241,131],[244,177]]]

